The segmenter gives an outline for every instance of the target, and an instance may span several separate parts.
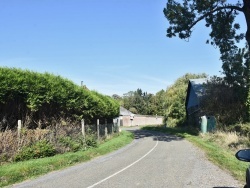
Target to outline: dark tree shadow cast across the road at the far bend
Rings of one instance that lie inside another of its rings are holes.
[[[135,139],[142,139],[146,137],[151,137],[154,141],[160,141],[160,142],[171,142],[171,141],[181,141],[183,138],[169,135],[166,133],[161,133],[157,131],[149,131],[149,130],[128,130],[132,133],[134,133]]]

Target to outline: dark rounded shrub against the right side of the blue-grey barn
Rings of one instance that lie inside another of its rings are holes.
[[[247,120],[246,105],[239,86],[232,86],[222,77],[212,77],[205,85],[206,97],[201,108],[206,115],[216,117],[219,125],[228,126]]]

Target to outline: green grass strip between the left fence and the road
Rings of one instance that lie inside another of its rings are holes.
[[[80,162],[86,162],[117,150],[132,142],[133,139],[134,135],[132,133],[122,131],[119,136],[101,143],[97,148],[2,165],[0,166],[0,187],[33,179],[48,172],[73,166]]]

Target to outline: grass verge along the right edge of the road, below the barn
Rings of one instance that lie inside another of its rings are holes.
[[[197,131],[188,128],[164,128],[164,127],[143,127],[144,130],[161,131],[168,134],[177,135],[192,142],[201,148],[207,158],[220,168],[228,171],[235,179],[245,183],[245,172],[249,164],[238,161],[235,158],[235,151],[231,151],[215,140],[207,139]]]

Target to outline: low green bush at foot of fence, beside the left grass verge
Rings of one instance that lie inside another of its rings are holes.
[[[25,161],[29,159],[37,159],[50,157],[56,154],[56,150],[52,144],[46,140],[38,141],[30,147],[23,147],[15,156],[15,161]]]

